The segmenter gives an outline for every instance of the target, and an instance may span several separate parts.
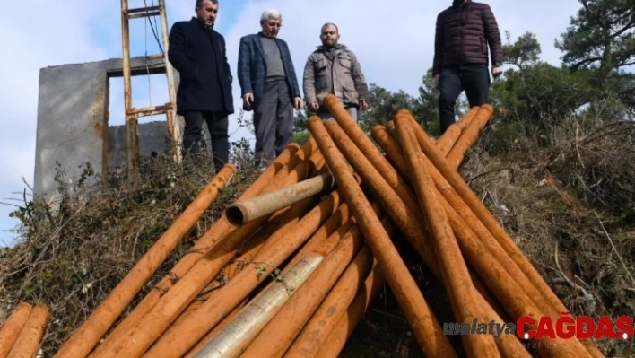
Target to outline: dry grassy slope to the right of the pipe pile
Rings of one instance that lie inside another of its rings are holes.
[[[635,311],[635,123],[586,131],[567,121],[549,146],[491,157],[478,144],[462,167],[475,192],[575,315]],[[600,342],[608,356],[633,354]]]

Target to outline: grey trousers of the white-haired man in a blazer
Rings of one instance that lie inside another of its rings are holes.
[[[254,109],[257,165],[266,165],[283,152],[293,135],[293,103],[285,79],[267,81]]]

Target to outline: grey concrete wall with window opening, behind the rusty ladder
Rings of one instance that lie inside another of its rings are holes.
[[[131,60],[133,74],[161,74],[161,60]],[[109,77],[121,76],[121,59],[75,65],[57,65],[39,71],[38,127],[35,150],[36,195],[56,194],[57,164],[66,178],[78,178],[80,166],[107,173],[126,162],[124,128],[109,128]],[[178,75],[175,75],[178,81]],[[123,126],[122,126],[123,127]],[[121,136],[120,136],[121,135]],[[165,122],[139,126],[141,154],[160,152],[166,144]],[[112,147],[109,150],[109,147]]]

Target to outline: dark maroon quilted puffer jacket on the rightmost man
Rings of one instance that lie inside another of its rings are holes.
[[[487,4],[471,0],[455,0],[455,4],[439,13],[434,39],[433,74],[448,65],[492,64],[503,60],[499,26]]]

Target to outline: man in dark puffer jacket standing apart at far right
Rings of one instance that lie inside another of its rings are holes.
[[[452,6],[439,13],[432,73],[441,92],[441,134],[455,122],[454,106],[462,91],[465,90],[471,107],[487,102],[490,92],[488,46],[491,74],[498,77],[502,74],[502,45],[499,26],[489,5],[454,0]]]

